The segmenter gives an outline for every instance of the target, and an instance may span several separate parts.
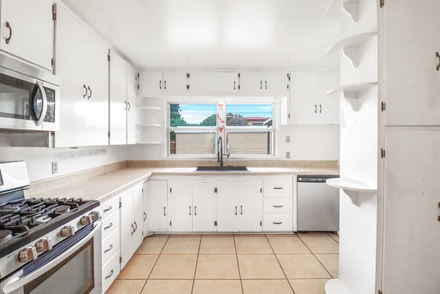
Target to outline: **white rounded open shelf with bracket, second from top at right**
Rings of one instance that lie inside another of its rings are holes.
[[[363,34],[355,34],[338,41],[335,45],[327,50],[327,54],[338,56],[339,58],[347,57],[353,67],[359,66],[358,49],[370,39],[377,36],[377,32],[366,32]]]

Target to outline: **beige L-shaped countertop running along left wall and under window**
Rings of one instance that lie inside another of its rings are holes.
[[[103,174],[78,173],[31,184],[26,198],[83,198],[105,201],[151,176],[265,176],[265,175],[338,175],[336,167],[248,167],[240,172],[195,172],[195,167],[120,167]],[[68,178],[67,178],[68,177]]]

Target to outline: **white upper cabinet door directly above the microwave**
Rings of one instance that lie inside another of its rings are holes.
[[[2,0],[0,49],[52,71],[52,0]]]

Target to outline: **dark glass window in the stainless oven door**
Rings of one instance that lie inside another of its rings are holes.
[[[94,288],[94,238],[72,256],[24,286],[24,293],[86,294]]]

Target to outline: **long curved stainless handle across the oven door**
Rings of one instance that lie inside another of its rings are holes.
[[[54,266],[56,266],[57,264],[62,262],[65,258],[69,257],[69,255],[74,253],[76,250],[80,249],[81,246],[83,246],[84,244],[89,242],[89,240],[91,240],[91,238],[94,237],[96,231],[98,231],[100,229],[101,229],[101,222],[98,222],[98,224],[96,224],[96,226],[94,227],[93,231],[91,231],[89,233],[89,235],[87,235],[85,238],[81,239],[80,242],[76,243],[74,246],[72,246],[69,249],[67,249],[66,251],[64,251],[61,255],[59,255],[56,258],[54,258],[54,260],[52,260],[51,262],[45,264],[40,269],[37,269],[36,271],[33,271],[29,275],[26,275],[25,277],[21,277],[19,280],[15,280],[14,282],[11,282],[10,284],[6,284],[3,287],[3,293],[5,293],[5,294],[12,293],[12,292],[16,291],[17,289],[22,288],[23,286],[25,286],[25,284],[28,284],[29,282],[32,282],[37,277],[43,275],[47,271],[50,271],[50,269],[54,268]]]

